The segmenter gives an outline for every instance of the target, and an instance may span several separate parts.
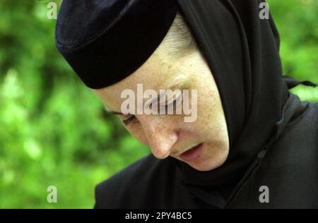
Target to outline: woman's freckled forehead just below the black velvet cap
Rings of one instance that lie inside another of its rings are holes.
[[[176,90],[186,88],[191,83],[189,73],[181,61],[168,61],[153,55],[141,68],[124,80],[101,90],[94,90],[107,109],[118,109],[124,101],[121,98],[124,90],[136,92],[137,85],[143,90]]]

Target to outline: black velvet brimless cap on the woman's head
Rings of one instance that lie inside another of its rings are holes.
[[[88,88],[105,88],[147,61],[176,14],[175,0],[64,0],[57,48]]]

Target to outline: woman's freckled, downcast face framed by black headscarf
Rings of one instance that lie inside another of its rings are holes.
[[[216,169],[225,162],[229,152],[225,115],[215,80],[200,52],[175,59],[159,47],[131,76],[94,92],[108,111],[121,113],[126,100],[122,92],[133,90],[137,95],[137,84],[158,95],[160,90],[197,90],[194,122],[185,122],[184,115],[177,114],[119,115],[131,135],[148,145],[155,157],[171,156],[199,171]]]

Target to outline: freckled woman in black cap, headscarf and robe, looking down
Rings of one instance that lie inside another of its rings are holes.
[[[318,104],[288,91],[301,82],[283,78],[260,4],[63,1],[59,51],[152,152],[100,183],[96,208],[318,207]],[[197,119],[123,112],[140,84],[197,90]]]

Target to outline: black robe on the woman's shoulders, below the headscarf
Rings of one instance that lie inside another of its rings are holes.
[[[318,104],[290,95],[277,123],[281,136],[259,152],[226,202],[217,190],[206,197],[184,184],[175,159],[149,155],[100,183],[95,208],[318,208],[317,123]],[[269,203],[259,202],[261,186],[269,187]]]

